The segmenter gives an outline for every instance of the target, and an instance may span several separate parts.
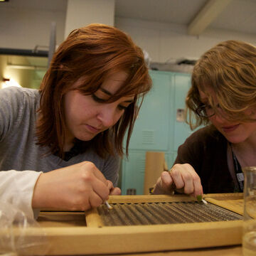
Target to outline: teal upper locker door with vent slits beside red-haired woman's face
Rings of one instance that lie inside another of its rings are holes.
[[[153,87],[144,98],[134,125],[129,149],[169,149],[171,75],[151,72]]]

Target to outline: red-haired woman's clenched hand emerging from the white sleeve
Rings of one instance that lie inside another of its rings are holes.
[[[100,206],[110,194],[120,194],[92,162],[49,171],[39,176],[33,192],[33,208],[87,210]]]

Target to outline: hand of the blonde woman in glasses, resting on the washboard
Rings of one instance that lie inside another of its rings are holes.
[[[163,171],[153,193],[172,194],[174,191],[194,197],[203,195],[201,179],[190,164],[174,164],[170,171]]]

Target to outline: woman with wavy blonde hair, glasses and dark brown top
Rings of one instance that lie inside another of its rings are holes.
[[[191,127],[206,127],[179,146],[154,193],[242,192],[242,167],[256,166],[255,46],[225,41],[204,53],[193,68],[186,106]]]

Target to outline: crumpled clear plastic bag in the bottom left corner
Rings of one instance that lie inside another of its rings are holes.
[[[46,255],[48,240],[36,220],[0,202],[0,255]]]

